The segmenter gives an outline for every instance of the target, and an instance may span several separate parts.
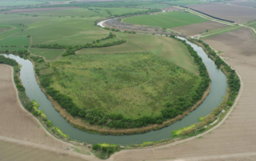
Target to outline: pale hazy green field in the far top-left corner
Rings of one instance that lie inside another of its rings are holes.
[[[30,5],[39,5],[46,2],[37,2],[37,1],[1,1],[0,6],[30,6]]]

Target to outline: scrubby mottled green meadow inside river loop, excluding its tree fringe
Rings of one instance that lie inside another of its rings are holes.
[[[80,108],[132,119],[161,114],[167,101],[190,96],[200,82],[195,74],[152,53],[76,55],[50,66],[56,69],[52,87]]]

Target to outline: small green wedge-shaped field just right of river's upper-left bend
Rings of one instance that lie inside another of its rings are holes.
[[[45,57],[46,60],[52,61],[60,57],[63,53],[65,53],[65,49],[37,49],[30,48],[30,53],[38,56]]]

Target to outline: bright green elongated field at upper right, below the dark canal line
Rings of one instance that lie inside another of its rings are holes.
[[[123,22],[143,25],[143,26],[158,26],[166,29],[187,26],[194,23],[207,22],[208,20],[200,18],[194,14],[174,11],[167,13],[160,13],[156,15],[143,15],[125,18]]]

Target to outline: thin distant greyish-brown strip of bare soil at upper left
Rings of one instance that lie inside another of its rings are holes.
[[[74,9],[74,8],[78,8],[78,7],[50,7],[50,8],[17,9],[17,10],[0,11],[0,14],[23,14],[23,13],[31,13],[31,12],[39,12],[39,11],[47,11],[47,10],[67,10],[67,9]]]

